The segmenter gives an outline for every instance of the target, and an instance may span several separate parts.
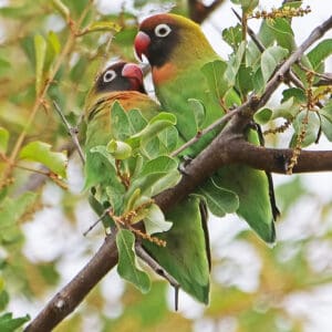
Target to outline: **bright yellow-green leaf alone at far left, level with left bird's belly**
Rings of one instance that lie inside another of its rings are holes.
[[[28,143],[22,147],[20,158],[41,163],[61,177],[66,177],[66,154],[52,152],[48,143],[40,141]]]

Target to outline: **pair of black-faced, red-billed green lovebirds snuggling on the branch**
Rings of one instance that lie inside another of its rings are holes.
[[[227,107],[240,103],[231,86],[224,95],[219,94],[218,87],[212,89],[215,83],[209,82],[206,72],[214,63],[224,65],[225,62],[216,54],[195,22],[172,13],[149,17],[141,23],[134,46],[137,56],[141,60],[143,55],[146,56],[151,64],[155,93],[160,104],[145,93],[138,65],[118,62],[108,66],[97,77],[86,102],[84,117],[87,125],[87,163],[94,163],[91,148],[106,145],[112,138],[114,128],[111,127],[110,112],[116,101],[125,111],[139,110],[147,120],[160,110],[175,114],[176,127],[183,142],[222,117]],[[221,81],[225,80],[221,77]],[[204,106],[205,114],[199,125],[189,106],[193,98]],[[185,153],[195,157],[217,133],[215,131],[203,136]],[[258,134],[252,128],[248,128],[246,135],[249,142],[259,144]],[[95,165],[95,169],[103,172],[100,165]],[[271,204],[272,191],[267,174],[246,165],[231,165],[219,169],[211,179],[206,187],[203,185],[205,190],[199,194],[204,196],[211,184],[225,193],[232,193],[239,201],[236,212],[261,239],[273,242],[273,222],[278,209]],[[167,239],[166,248],[149,242],[144,247],[186,292],[207,303],[210,258],[204,201],[199,196],[189,196],[173,207],[166,214],[167,219],[174,222],[172,229],[158,235],[162,239]]]

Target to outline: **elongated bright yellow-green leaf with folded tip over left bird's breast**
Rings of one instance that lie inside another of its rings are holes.
[[[133,148],[139,148],[147,144],[151,139],[157,136],[162,131],[176,124],[176,116],[170,113],[160,112],[154,116],[147,124],[147,126],[139,133],[131,136],[125,142]]]

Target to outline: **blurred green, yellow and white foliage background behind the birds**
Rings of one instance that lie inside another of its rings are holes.
[[[136,15],[168,7],[168,2],[134,1],[122,10],[121,1],[111,1],[111,13],[107,1],[63,2],[75,22],[85,11],[82,27],[94,21],[112,21],[123,28],[115,38],[113,31],[74,38],[60,62],[48,97],[56,100],[74,124],[92,80],[105,62],[115,56],[134,60],[132,42]],[[271,1],[261,3],[264,9],[271,7]],[[38,101],[34,35],[48,37],[50,30],[58,35],[59,53],[50,54],[54,65],[71,32],[65,18],[51,1],[4,1],[1,4],[6,7],[0,8],[0,126],[10,132],[11,151]],[[320,6],[329,8],[328,0],[311,6],[312,14],[294,19],[294,25],[302,27],[295,30],[298,42],[307,37],[310,28],[326,18]],[[236,23],[236,19],[229,22],[229,8],[230,4],[225,3],[204,24],[224,58],[227,58],[227,48],[220,38],[221,30]],[[185,1],[178,1],[178,10],[186,13]],[[317,18],[315,23],[312,17]],[[24,142],[39,139],[61,151],[69,137],[52,104],[46,100],[42,104],[44,107],[39,107],[33,125],[27,128]],[[286,146],[290,136],[291,133],[273,136],[268,144]],[[322,139],[319,147],[331,148],[331,144]],[[25,166],[31,167],[31,164]],[[81,193],[82,169],[75,154],[70,158],[68,173],[69,190],[50,179],[35,189],[31,172],[15,169],[7,198],[1,191],[0,311],[11,311],[14,317],[27,313],[34,317],[89,261],[103,240],[101,228],[86,238],[82,236],[96,217]],[[165,282],[156,280],[152,291],[142,295],[111,271],[55,331],[329,331],[332,323],[329,314],[332,310],[332,176],[278,176],[274,179],[282,211],[274,248],[260,242],[235,216],[210,221],[214,283],[208,308],[181,293],[180,310],[174,313],[173,291]],[[30,188],[34,194],[24,194]]]

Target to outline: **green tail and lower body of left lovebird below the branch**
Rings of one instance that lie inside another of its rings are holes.
[[[166,215],[174,222],[170,230],[154,236],[166,247],[144,241],[144,248],[180,284],[200,302],[209,300],[209,242],[206,210],[197,197],[187,197]]]

